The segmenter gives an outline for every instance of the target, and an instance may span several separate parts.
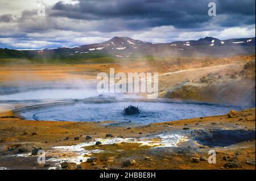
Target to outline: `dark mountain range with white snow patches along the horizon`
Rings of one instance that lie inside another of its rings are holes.
[[[235,56],[255,54],[255,37],[219,40],[205,37],[199,40],[152,44],[129,37],[113,37],[103,43],[73,48],[43,50],[0,49],[0,58],[28,60],[84,60],[89,58],[136,58],[178,56]]]

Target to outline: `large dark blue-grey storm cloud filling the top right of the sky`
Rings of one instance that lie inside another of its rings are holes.
[[[233,27],[255,23],[255,0],[80,0],[76,5],[56,3],[51,16],[63,16],[83,20],[122,19],[131,30],[138,28],[174,26],[198,28],[211,22],[208,3],[216,2],[217,15],[225,18],[215,22],[220,26]]]

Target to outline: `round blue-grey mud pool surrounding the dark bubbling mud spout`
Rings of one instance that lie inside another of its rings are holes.
[[[137,115],[124,115],[123,108],[138,106]],[[112,96],[96,96],[74,100],[66,104],[44,104],[19,110],[27,120],[47,121],[118,121],[150,124],[163,121],[191,119],[194,117],[223,115],[237,107],[208,103],[185,103],[171,100],[123,99]]]

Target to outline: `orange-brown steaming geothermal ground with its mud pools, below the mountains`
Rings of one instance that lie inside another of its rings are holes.
[[[240,104],[245,106],[242,108],[255,105],[254,59],[189,57],[113,64],[1,65],[0,169],[255,170],[255,108],[232,118],[227,115],[233,108],[240,110]],[[116,73],[158,72],[164,100],[146,102],[143,96],[94,94],[97,73],[108,73],[113,67]],[[226,106],[229,103],[232,106]],[[103,121],[114,117],[118,123],[129,123],[121,112],[130,104],[142,109],[141,117],[130,119],[133,127]],[[65,121],[24,120],[13,112],[16,109],[31,119]],[[220,116],[205,117],[208,115]],[[196,118],[185,119],[191,116]],[[176,119],[182,120],[173,121]],[[138,124],[142,120],[151,124]],[[96,141],[102,144],[95,145]],[[38,156],[31,155],[40,147],[46,150],[46,165],[38,164]],[[217,151],[216,164],[205,159],[209,150]],[[134,159],[134,164],[123,165],[127,159]],[[64,161],[68,167],[61,168]]]

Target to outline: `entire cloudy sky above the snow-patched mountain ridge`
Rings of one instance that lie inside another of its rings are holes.
[[[208,16],[209,2],[217,16]],[[0,48],[73,47],[114,36],[151,43],[254,37],[255,0],[0,0]]]

